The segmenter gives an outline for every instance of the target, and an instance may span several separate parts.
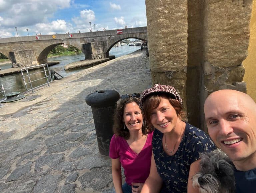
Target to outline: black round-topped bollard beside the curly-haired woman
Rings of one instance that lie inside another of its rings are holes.
[[[109,155],[109,144],[114,134],[113,115],[119,98],[120,95],[115,90],[96,91],[85,98],[86,104],[92,108],[98,147],[102,155]]]

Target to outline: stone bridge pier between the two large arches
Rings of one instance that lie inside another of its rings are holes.
[[[85,59],[94,60],[106,58],[103,48],[103,42],[91,42],[83,44]]]

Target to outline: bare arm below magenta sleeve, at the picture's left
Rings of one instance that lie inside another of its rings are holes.
[[[122,191],[122,174],[121,163],[119,158],[111,159],[112,162],[112,178],[116,193],[123,193]]]

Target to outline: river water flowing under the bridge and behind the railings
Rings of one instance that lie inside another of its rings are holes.
[[[109,51],[109,55],[115,55],[115,57],[118,58],[120,56],[132,53],[138,49],[140,49],[139,46],[129,46],[129,45],[113,47]],[[50,66],[49,68],[56,71],[61,76],[65,77],[65,76],[70,76],[80,70],[85,69],[85,68],[79,68],[79,69],[74,69],[74,70],[64,70],[65,65],[72,63],[72,62],[79,61],[79,60],[84,60],[84,59],[85,59],[84,54],[80,53],[80,54],[76,54],[76,55],[47,58],[47,61],[48,62],[54,62],[54,61],[60,62],[59,64]],[[12,66],[11,63],[0,64],[0,67],[2,70],[11,68],[11,66]],[[30,73],[35,73],[35,72],[39,72],[39,71],[42,71],[42,70],[41,69],[32,70],[32,71],[30,71]],[[40,73],[38,73],[38,74],[37,74],[37,78],[40,78]],[[41,76],[42,77],[44,76],[43,73]],[[42,80],[42,81],[44,81],[44,80]],[[43,84],[44,82],[42,83],[42,81],[35,82],[33,87],[37,86],[37,84]],[[3,76],[3,77],[1,77],[1,82],[4,86],[4,90],[5,90],[6,94],[11,93],[11,92],[17,92],[17,91],[22,93],[22,92],[26,91],[25,84],[24,84],[21,74]],[[2,98],[2,96],[0,96],[0,99],[1,98]]]

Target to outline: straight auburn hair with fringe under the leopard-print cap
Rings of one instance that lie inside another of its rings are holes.
[[[160,104],[161,97],[167,98],[169,100],[170,104],[175,109],[177,116],[181,120],[186,121],[186,113],[184,111],[182,111],[182,105],[180,104],[180,102],[178,100],[172,98],[167,93],[158,92],[158,93],[152,93],[152,94],[148,95],[147,98],[142,103],[143,113],[144,113],[145,120],[146,120],[148,127],[153,127],[153,125],[151,124],[151,113]]]

